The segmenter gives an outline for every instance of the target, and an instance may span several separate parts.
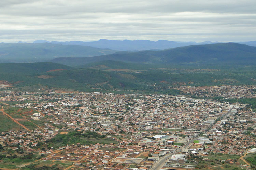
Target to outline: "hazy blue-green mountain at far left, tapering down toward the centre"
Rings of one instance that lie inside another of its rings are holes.
[[[51,43],[0,43],[0,63],[45,62],[57,57],[92,57],[115,50]]]

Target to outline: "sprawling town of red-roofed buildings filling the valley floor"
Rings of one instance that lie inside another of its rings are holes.
[[[175,89],[184,95],[4,89],[0,169],[255,169],[255,109],[239,100],[256,87]]]

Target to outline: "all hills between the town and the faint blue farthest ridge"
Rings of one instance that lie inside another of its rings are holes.
[[[47,42],[0,43],[0,62],[0,84],[19,91],[179,94],[173,86],[256,84],[256,47],[238,43],[133,52]]]

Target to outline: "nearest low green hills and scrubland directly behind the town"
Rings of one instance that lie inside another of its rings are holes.
[[[191,65],[172,67],[119,61],[92,63],[80,69],[57,63],[2,63],[0,66],[0,84],[26,91],[119,89],[178,94],[179,91],[170,90],[171,87],[256,84],[255,66],[218,66],[218,69],[209,69]]]

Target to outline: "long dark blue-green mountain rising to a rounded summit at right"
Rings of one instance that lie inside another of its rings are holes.
[[[256,64],[256,47],[238,43],[218,43],[177,47],[160,51],[116,52],[110,55],[87,58],[56,58],[51,62],[78,66],[113,60],[129,63],[179,64]]]

